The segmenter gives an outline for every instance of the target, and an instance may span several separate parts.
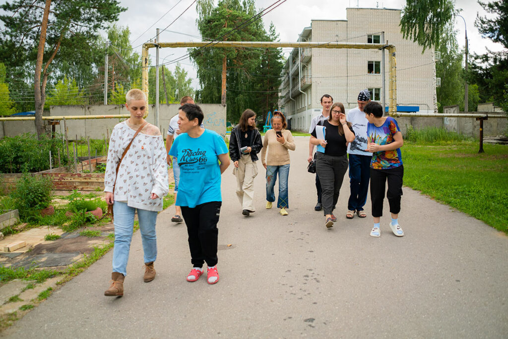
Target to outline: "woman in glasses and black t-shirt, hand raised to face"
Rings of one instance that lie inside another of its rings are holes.
[[[317,139],[316,129],[318,128],[324,128],[325,139]],[[316,125],[310,134],[310,143],[322,146],[317,148],[316,173],[323,192],[325,225],[330,228],[337,220],[333,215],[333,209],[339,199],[340,186],[347,171],[347,143],[355,140],[353,127],[346,121],[344,105],[333,104],[328,120]]]

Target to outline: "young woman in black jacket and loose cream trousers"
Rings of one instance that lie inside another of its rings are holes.
[[[242,204],[242,214],[246,217],[256,212],[254,208],[254,178],[258,175],[258,153],[263,148],[261,134],[256,128],[256,112],[246,109],[238,125],[231,130],[229,155],[236,176],[236,195]]]

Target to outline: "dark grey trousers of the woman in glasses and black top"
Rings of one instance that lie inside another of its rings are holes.
[[[339,199],[339,191],[347,171],[347,155],[331,156],[317,153],[316,173],[321,181],[323,190],[323,212],[332,214]]]

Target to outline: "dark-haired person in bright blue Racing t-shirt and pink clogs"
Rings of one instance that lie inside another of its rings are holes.
[[[194,282],[208,265],[208,284],[219,280],[217,273],[217,222],[222,197],[220,175],[230,164],[228,147],[216,132],[201,127],[203,111],[198,105],[185,104],[178,111],[181,134],[175,139],[169,155],[180,165],[180,183],[176,205],[182,209],[187,225],[193,268],[187,281]]]

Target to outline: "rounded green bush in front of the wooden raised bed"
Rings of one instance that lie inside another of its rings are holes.
[[[28,173],[16,182],[16,189],[11,192],[20,217],[30,211],[45,209],[51,203],[53,182],[49,177],[33,176]]]

